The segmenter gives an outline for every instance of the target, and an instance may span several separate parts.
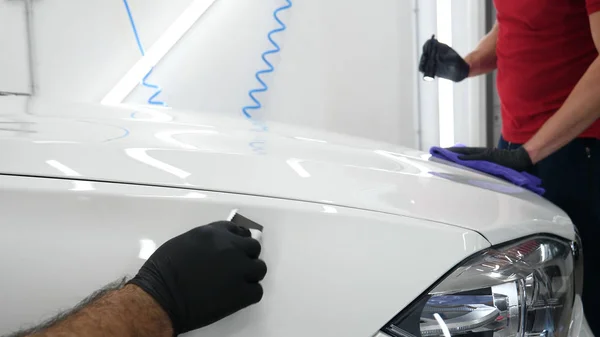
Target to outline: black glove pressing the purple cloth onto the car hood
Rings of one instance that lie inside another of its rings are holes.
[[[528,171],[533,163],[523,147],[516,150],[489,149],[482,147],[451,147],[448,150],[459,153],[460,160],[485,160],[518,172]]]

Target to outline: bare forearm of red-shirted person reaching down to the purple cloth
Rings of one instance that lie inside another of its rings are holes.
[[[590,15],[590,27],[600,51],[600,12]],[[537,163],[579,136],[600,118],[600,57],[590,65],[563,106],[523,147]]]

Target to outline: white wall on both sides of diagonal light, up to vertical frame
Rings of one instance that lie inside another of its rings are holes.
[[[9,0],[0,0],[0,2]],[[18,1],[18,0],[11,0]],[[190,0],[130,0],[146,47]],[[217,0],[156,67],[174,108],[240,114],[283,0]],[[415,147],[411,1],[295,0],[258,117]],[[2,28],[4,28],[2,26]],[[121,0],[33,1],[36,95],[100,101],[139,59]],[[126,100],[144,104],[138,87]]]

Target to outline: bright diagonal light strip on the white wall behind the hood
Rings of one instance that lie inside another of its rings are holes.
[[[173,46],[192,28],[194,23],[212,6],[216,0],[194,0],[173,24],[146,51],[133,68],[100,101],[105,105],[117,105],[135,89],[144,76],[173,48]]]

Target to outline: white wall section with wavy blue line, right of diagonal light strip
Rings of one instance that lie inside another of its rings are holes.
[[[160,63],[153,81],[174,108],[241,113],[270,48],[267,33],[283,0],[217,1]],[[410,1],[294,1],[281,18],[270,89],[257,118],[414,147],[413,14]],[[128,98],[143,103],[150,90]]]

